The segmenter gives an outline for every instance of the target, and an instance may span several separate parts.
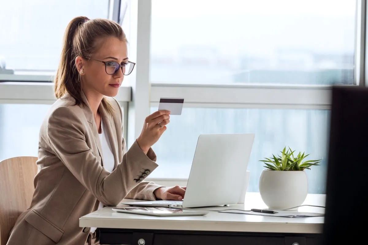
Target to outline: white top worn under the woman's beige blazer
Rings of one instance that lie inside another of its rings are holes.
[[[115,158],[112,151],[111,143],[109,140],[109,136],[106,133],[106,128],[103,125],[103,121],[101,119],[101,133],[98,135],[100,137],[102,154],[103,154],[103,167],[109,172],[113,172],[115,166]],[[103,204],[100,202],[98,209],[103,208]],[[91,228],[91,233],[96,230],[96,227]]]

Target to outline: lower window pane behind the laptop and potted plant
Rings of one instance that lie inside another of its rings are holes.
[[[151,112],[155,110],[157,107],[151,108]],[[152,147],[159,167],[150,177],[187,179],[199,134],[255,133],[248,191],[259,191],[258,180],[264,169],[259,160],[290,146],[311,153],[309,160],[323,158],[321,166],[306,172],[308,193],[325,193],[328,125],[328,110],[183,108],[182,115],[170,117],[167,130]]]

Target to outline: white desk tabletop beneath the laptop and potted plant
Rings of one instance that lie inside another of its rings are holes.
[[[129,200],[125,201],[138,201]],[[142,201],[142,200],[139,200]],[[303,204],[325,206],[325,195],[308,194]],[[122,206],[122,205],[119,205]],[[214,207],[204,209],[225,209]],[[229,209],[267,208],[258,192],[247,192],[244,204],[229,205]],[[304,206],[300,212],[324,213],[324,208]],[[157,229],[157,230],[197,230],[234,232],[275,232],[275,233],[322,233],[324,217],[272,217],[234,213],[209,212],[205,216],[155,217],[116,213],[112,207],[105,207],[79,219],[79,227]]]

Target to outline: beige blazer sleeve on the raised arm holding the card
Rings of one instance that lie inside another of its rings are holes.
[[[104,169],[88,147],[85,127],[68,107],[56,108],[49,116],[47,134],[54,154],[95,197],[107,206],[116,206],[134,187],[142,171],[158,166],[137,142],[123,155],[113,172]]]

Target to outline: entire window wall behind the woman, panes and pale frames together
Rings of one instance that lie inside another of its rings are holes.
[[[306,173],[309,193],[324,193],[329,85],[365,85],[365,12],[357,0],[4,1],[0,159],[37,154],[54,97],[48,83],[32,81],[54,74],[68,22],[85,15],[119,20],[137,62],[116,97],[128,145],[160,97],[184,97],[183,114],[153,145],[153,180],[187,179],[201,133],[253,132],[249,191],[258,191],[259,160],[289,145],[323,158]]]

